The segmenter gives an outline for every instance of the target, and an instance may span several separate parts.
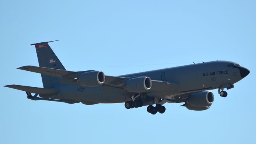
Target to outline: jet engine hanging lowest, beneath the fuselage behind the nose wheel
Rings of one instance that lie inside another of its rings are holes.
[[[212,92],[198,92],[188,96],[188,100],[183,106],[189,110],[207,110],[214,101]]]

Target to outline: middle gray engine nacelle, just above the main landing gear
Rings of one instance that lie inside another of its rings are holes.
[[[149,77],[131,78],[125,82],[124,88],[128,92],[146,92],[150,90],[152,86],[151,79]]]

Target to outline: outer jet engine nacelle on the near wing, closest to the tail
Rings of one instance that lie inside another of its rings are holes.
[[[105,82],[105,74],[102,71],[84,72],[77,78],[81,86],[99,86]]]

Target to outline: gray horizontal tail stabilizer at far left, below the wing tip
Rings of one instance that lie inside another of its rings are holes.
[[[32,92],[34,94],[42,94],[42,95],[50,95],[50,94],[55,94],[57,92],[59,92],[59,90],[53,90],[53,89],[48,89],[48,88],[36,88],[36,87],[32,87],[32,86],[20,86],[20,85],[7,85],[5,87],[8,88],[14,88],[16,90],[22,90],[25,92]]]

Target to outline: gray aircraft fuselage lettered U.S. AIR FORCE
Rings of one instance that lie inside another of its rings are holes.
[[[235,62],[212,61],[200,64],[191,64],[173,68],[164,68],[148,72],[122,75],[120,77],[148,76],[152,80],[160,80],[178,83],[177,87],[164,90],[148,90],[146,94],[152,98],[165,98],[181,96],[192,92],[213,90],[216,88],[227,88],[244,78],[246,72]],[[131,100],[132,93],[123,88],[101,85],[96,87],[79,87],[70,84],[63,84],[57,88],[60,92],[45,98],[55,98],[61,100],[80,101],[83,104],[97,103],[120,103]]]

